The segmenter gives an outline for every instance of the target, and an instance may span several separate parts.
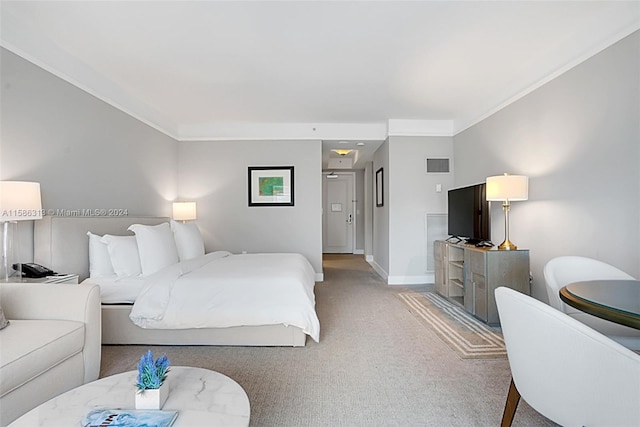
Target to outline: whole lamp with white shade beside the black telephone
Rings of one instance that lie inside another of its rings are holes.
[[[25,181],[0,181],[0,282],[22,280],[20,264],[18,221],[42,219],[40,184]]]

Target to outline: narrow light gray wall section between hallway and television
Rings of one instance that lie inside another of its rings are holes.
[[[391,136],[389,184],[389,284],[432,283],[428,274],[426,215],[447,212],[451,173],[426,173],[427,158],[453,157],[451,137]],[[453,165],[453,161],[450,162]],[[436,184],[442,191],[436,191]]]

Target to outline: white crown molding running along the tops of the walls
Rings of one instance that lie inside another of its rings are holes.
[[[515,95],[477,110],[479,113],[473,117],[455,120],[389,119],[377,123],[213,123],[179,126],[137,99],[135,94],[70,55],[31,22],[24,21],[7,8],[2,9],[0,46],[177,141],[384,140],[389,136],[455,136],[638,30],[640,23],[629,24]]]

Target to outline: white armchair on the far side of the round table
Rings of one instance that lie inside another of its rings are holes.
[[[632,276],[602,261],[581,256],[553,258],[544,266],[543,272],[549,304],[553,308],[627,348],[640,350],[640,330],[609,322],[568,306],[562,302],[559,295],[560,289],[569,283],[584,280],[635,280]]]

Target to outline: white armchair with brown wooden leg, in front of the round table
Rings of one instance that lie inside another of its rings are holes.
[[[640,356],[536,299],[495,291],[512,382],[502,425],[520,396],[563,426],[640,425]]]

